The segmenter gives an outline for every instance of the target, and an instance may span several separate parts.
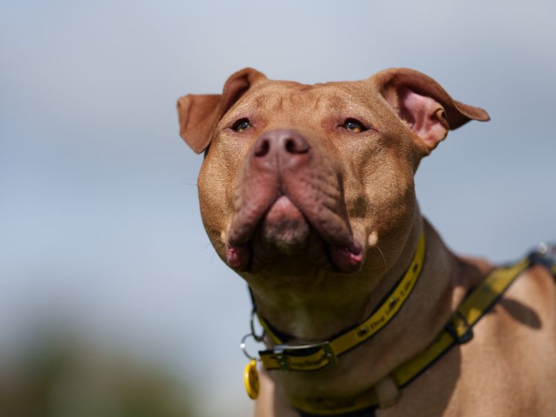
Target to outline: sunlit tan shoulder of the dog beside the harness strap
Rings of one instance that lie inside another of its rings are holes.
[[[445,415],[545,416],[556,379],[556,282],[542,265],[516,278],[473,327],[473,339],[439,363],[457,370]],[[432,378],[434,379],[434,378]],[[439,377],[445,381],[445,377]],[[428,381],[429,384],[434,382]],[[461,413],[461,414],[460,414]]]

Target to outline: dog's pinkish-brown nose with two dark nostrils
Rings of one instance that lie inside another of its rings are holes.
[[[272,164],[276,161],[281,168],[292,167],[309,158],[310,148],[309,142],[300,133],[290,129],[275,129],[256,140],[254,163]]]

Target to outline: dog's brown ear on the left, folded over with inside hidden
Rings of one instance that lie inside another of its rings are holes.
[[[178,100],[179,134],[197,154],[211,143],[222,116],[265,75],[252,68],[231,74],[222,95],[186,95]]]

